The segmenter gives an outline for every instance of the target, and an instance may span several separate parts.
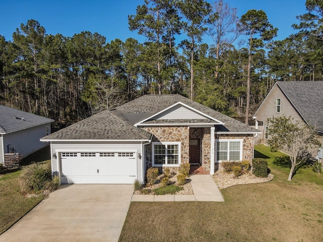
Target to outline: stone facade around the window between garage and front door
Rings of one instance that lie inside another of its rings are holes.
[[[188,127],[147,127],[143,128],[153,134],[152,142],[181,142],[181,163],[189,163],[189,128]],[[152,166],[152,145],[145,146],[146,166]],[[160,167],[160,171],[166,167]],[[178,171],[178,166],[171,166],[172,172]]]

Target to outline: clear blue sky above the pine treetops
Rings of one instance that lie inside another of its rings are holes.
[[[214,1],[208,1],[213,3]],[[304,14],[305,0],[224,0],[237,8],[238,16],[250,9],[263,10],[274,27],[279,28],[275,40],[284,39],[294,33],[292,24],[298,23],[296,16]],[[20,24],[28,19],[39,22],[47,34],[61,33],[73,36],[81,31],[98,32],[110,42],[116,38],[125,41],[133,37],[145,39],[128,27],[128,15],[136,13],[143,0],[0,0],[0,35],[6,40]],[[205,38],[206,43],[211,44]]]

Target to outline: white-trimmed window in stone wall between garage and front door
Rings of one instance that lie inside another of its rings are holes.
[[[181,158],[180,142],[152,142],[153,166],[178,166]]]

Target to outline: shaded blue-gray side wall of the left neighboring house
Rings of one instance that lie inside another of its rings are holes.
[[[50,124],[46,124],[3,135],[4,153],[8,152],[9,146],[9,148],[13,148],[22,157],[26,157],[48,145],[48,143],[39,141],[39,139],[46,136],[46,126],[49,126],[50,133]]]

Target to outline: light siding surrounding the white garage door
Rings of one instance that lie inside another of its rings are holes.
[[[84,151],[84,152],[94,152],[94,151],[126,151],[126,150],[134,150],[137,153],[141,153],[141,142],[51,142],[52,153],[58,152],[58,150],[62,151]],[[52,154],[51,154],[52,155]],[[143,155],[143,154],[141,154]],[[52,158],[52,172],[57,173],[60,172],[60,167],[58,167],[58,159]],[[137,178],[141,180],[142,177],[142,160],[136,157],[137,159]]]

